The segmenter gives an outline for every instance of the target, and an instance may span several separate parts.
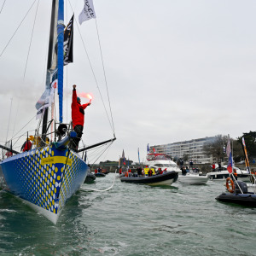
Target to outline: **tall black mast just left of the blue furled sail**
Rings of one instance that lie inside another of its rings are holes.
[[[52,5],[51,5],[46,87],[49,87],[49,83],[50,83],[49,69],[52,65],[52,55],[53,55],[53,49],[54,49],[53,44],[54,44],[54,33],[55,33],[55,6],[56,6],[55,2],[56,2],[56,0],[52,0]],[[45,108],[44,109],[44,117],[43,117],[43,125],[42,125],[42,142],[43,143],[46,141],[48,112],[49,112],[49,108]]]

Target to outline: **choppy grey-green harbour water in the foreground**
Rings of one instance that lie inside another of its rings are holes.
[[[114,178],[97,177],[90,189]],[[1,255],[256,255],[256,209],[220,203],[224,182],[79,191],[56,225],[0,194]]]

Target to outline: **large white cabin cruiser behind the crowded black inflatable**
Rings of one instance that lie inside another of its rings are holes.
[[[144,164],[148,168],[154,168],[155,170],[161,168],[161,170],[166,170],[166,172],[181,172],[177,164],[166,154],[148,154]]]

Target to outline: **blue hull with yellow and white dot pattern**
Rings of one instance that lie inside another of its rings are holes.
[[[79,154],[53,145],[16,154],[0,163],[3,189],[57,222],[67,200],[79,189],[88,166]]]

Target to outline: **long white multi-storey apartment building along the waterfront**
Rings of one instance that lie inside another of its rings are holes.
[[[150,153],[161,153],[172,156],[172,159],[187,158],[194,164],[212,163],[212,156],[203,153],[205,143],[212,143],[216,137],[204,137],[183,141],[178,143],[168,143],[163,145],[154,145],[150,147]]]

